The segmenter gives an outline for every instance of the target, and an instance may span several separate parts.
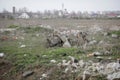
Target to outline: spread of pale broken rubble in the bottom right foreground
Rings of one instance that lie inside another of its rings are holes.
[[[117,61],[101,61],[93,62],[89,60],[85,62],[83,60],[77,60],[72,56],[69,56],[70,60],[62,60],[57,66],[65,68],[64,73],[67,72],[82,72],[76,80],[90,80],[92,76],[103,75],[107,80],[119,80],[120,79],[120,60]]]

